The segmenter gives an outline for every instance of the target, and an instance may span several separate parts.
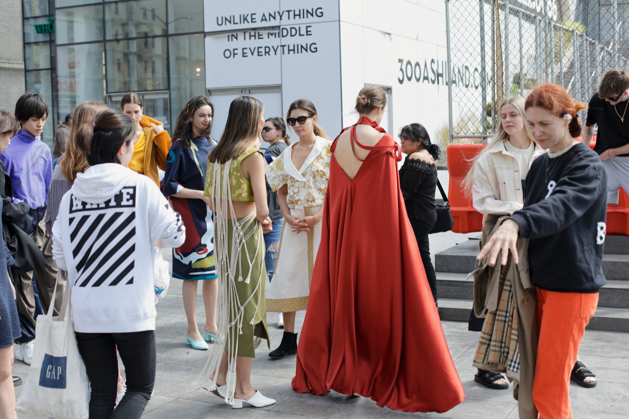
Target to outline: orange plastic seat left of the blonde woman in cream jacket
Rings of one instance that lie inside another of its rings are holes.
[[[465,196],[462,182],[467,175],[474,157],[486,147],[482,144],[450,144],[446,148],[448,155],[448,200],[454,218],[455,233],[472,233],[482,231],[482,214],[474,210],[471,196]]]

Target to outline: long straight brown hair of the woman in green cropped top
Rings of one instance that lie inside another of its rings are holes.
[[[225,164],[245,154],[257,140],[258,120],[263,113],[264,105],[258,99],[250,96],[233,99],[221,140],[208,154],[209,162]]]

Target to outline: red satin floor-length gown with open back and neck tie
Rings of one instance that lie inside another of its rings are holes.
[[[389,134],[376,147],[358,145],[371,151],[353,181],[331,158],[292,388],[359,393],[395,410],[450,410],[465,392],[406,216],[399,148]]]

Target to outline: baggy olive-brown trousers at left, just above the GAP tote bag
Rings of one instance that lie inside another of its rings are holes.
[[[40,303],[42,303],[43,313],[45,314],[52,303],[52,293],[57,286],[57,295],[55,296],[54,314],[59,314],[61,303],[64,299],[64,289],[62,284],[57,284],[57,263],[52,259],[52,238],[46,232],[45,217],[38,223],[37,228],[31,233],[31,238],[35,241],[37,247],[42,251],[47,265],[35,269],[35,271],[26,272],[26,274],[18,275],[16,282],[16,304],[18,313],[26,316],[28,320],[35,326],[35,294],[33,293],[33,275],[35,275],[35,283]]]

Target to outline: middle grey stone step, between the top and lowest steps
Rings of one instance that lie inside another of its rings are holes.
[[[438,298],[474,298],[474,279],[467,279],[467,274],[456,272],[437,272]],[[629,308],[629,281],[608,279],[601,288],[598,298],[599,307]]]

